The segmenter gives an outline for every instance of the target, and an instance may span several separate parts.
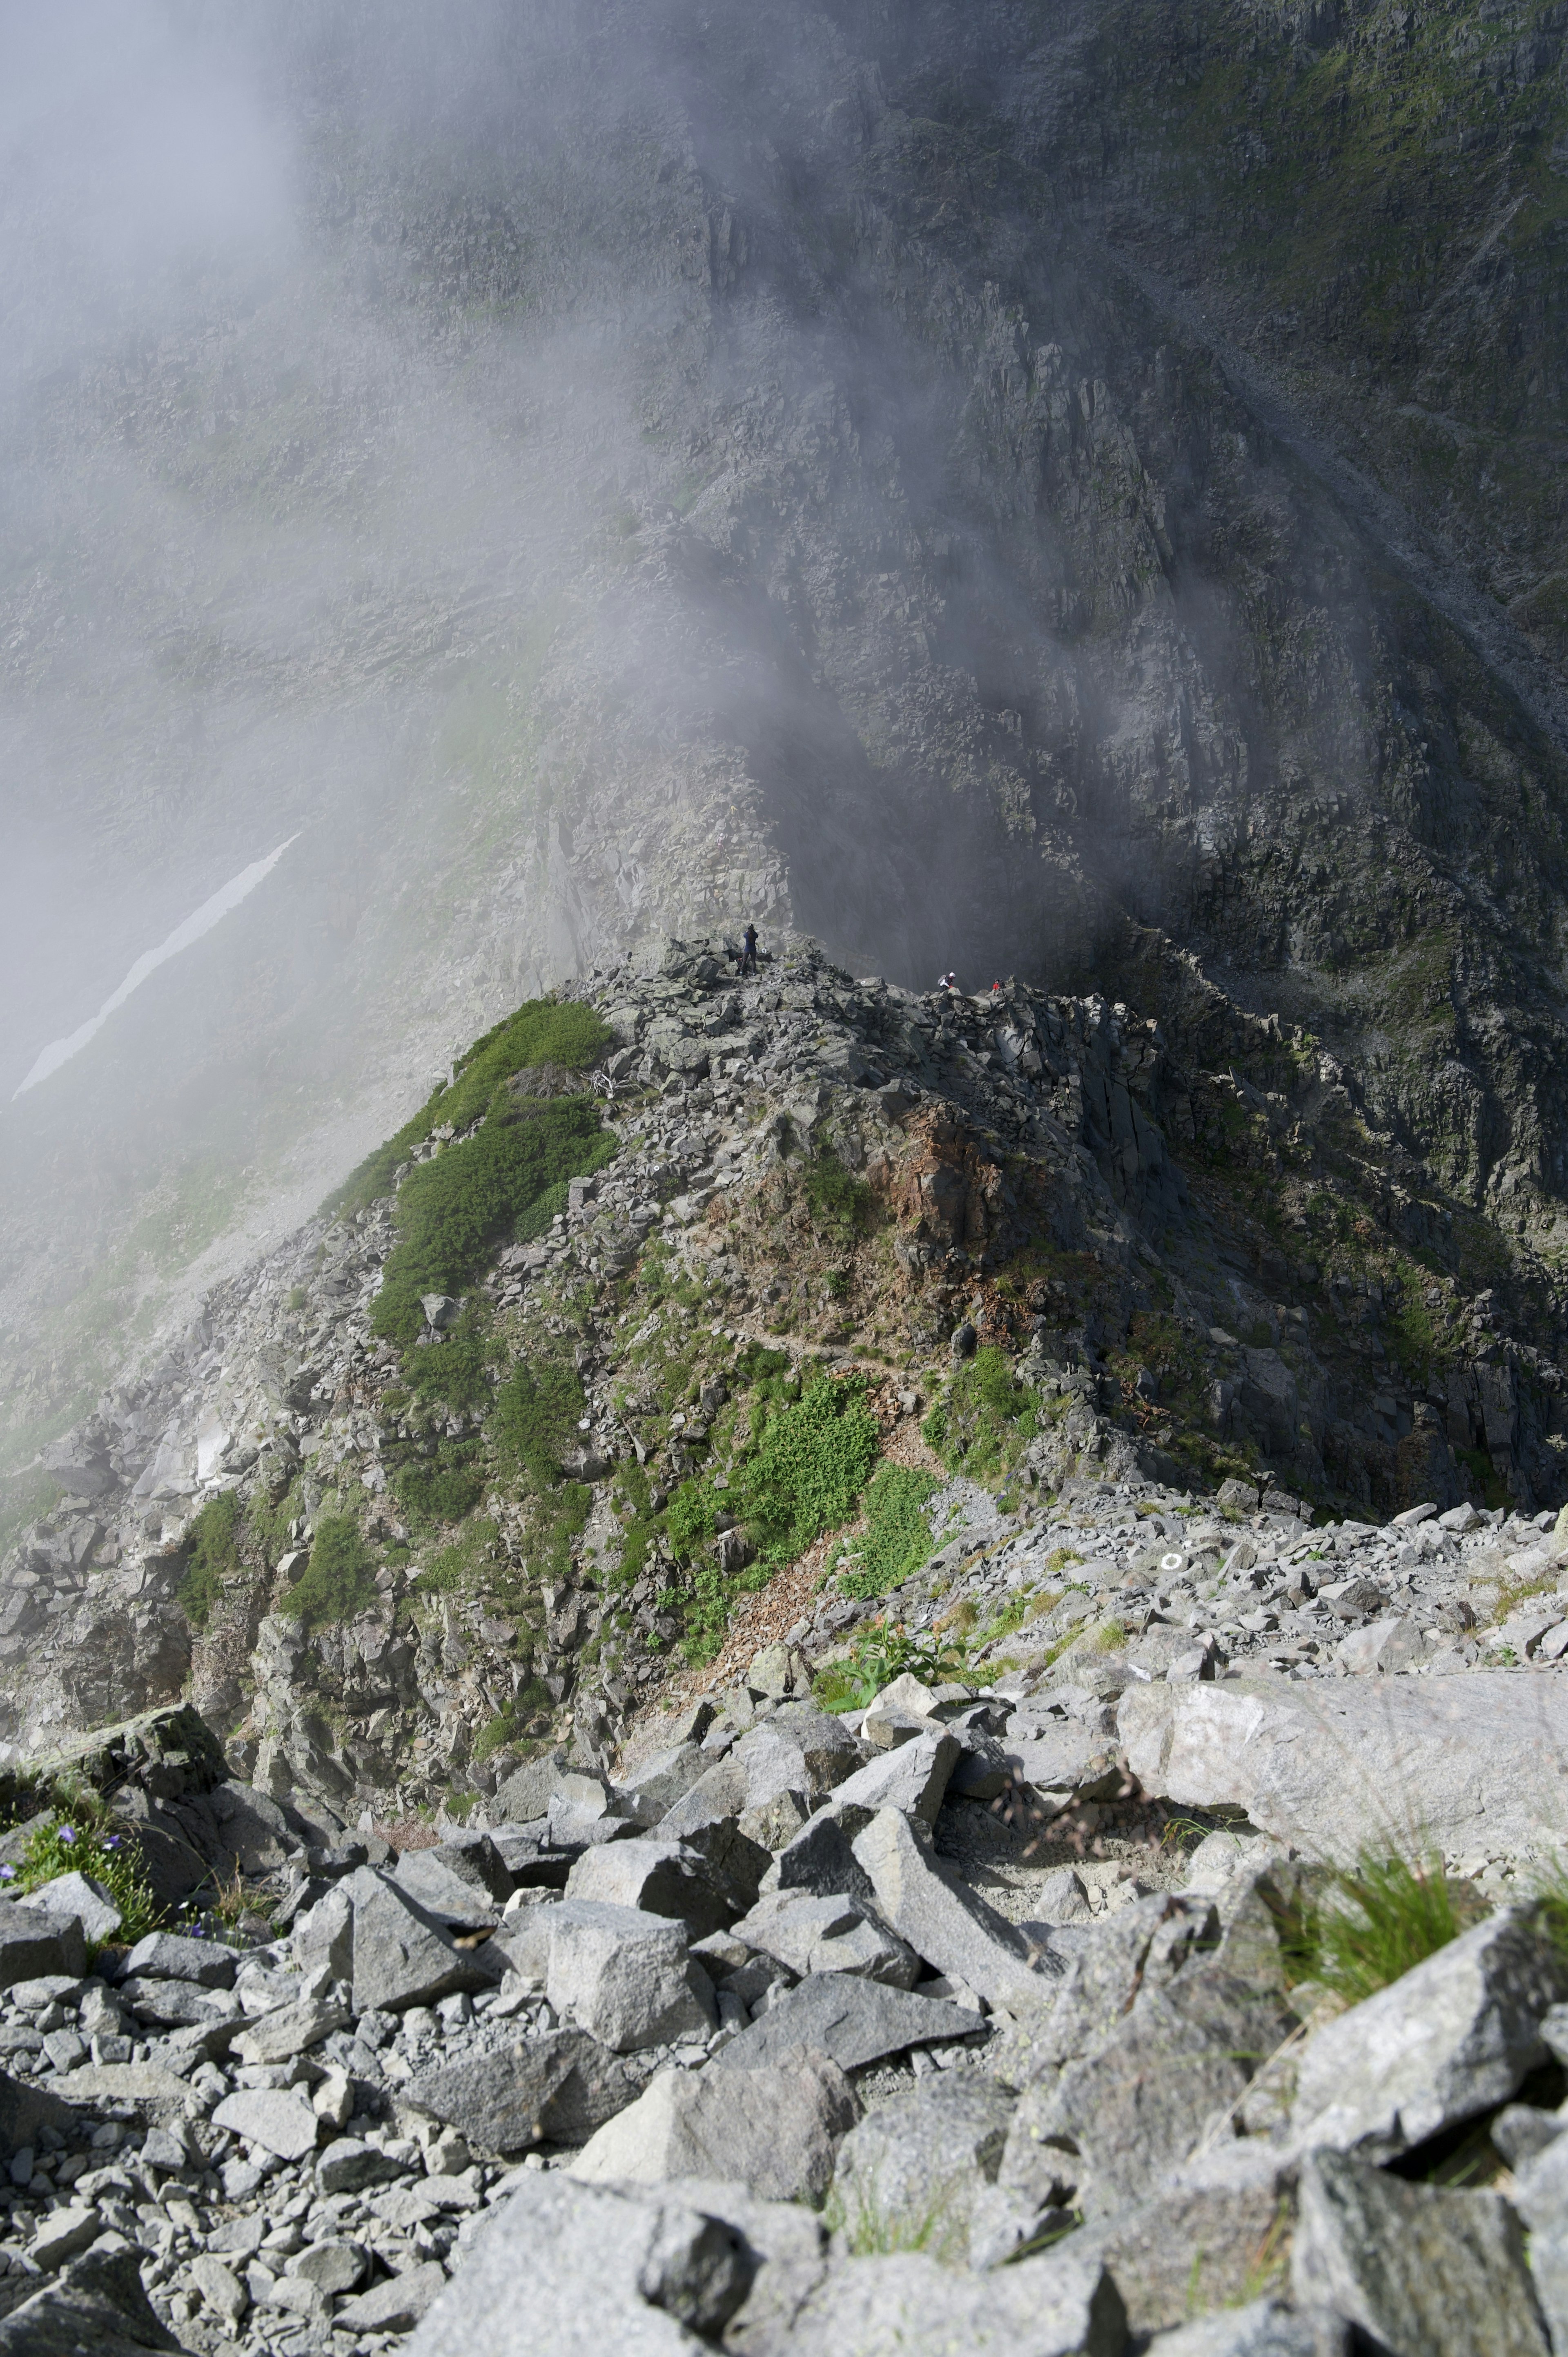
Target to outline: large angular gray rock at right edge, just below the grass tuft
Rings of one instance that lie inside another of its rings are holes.
[[[1488,1916],[1306,2041],[1292,2145],[1386,2161],[1504,2102],[1547,2060],[1540,2020],[1566,1987],[1523,1916]]]

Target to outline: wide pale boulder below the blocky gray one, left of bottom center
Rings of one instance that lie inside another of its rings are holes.
[[[837,2138],[854,2126],[849,2081],[823,2055],[764,2069],[665,2069],[571,2164],[585,2185],[738,2178],[764,2201],[821,2201]]]

